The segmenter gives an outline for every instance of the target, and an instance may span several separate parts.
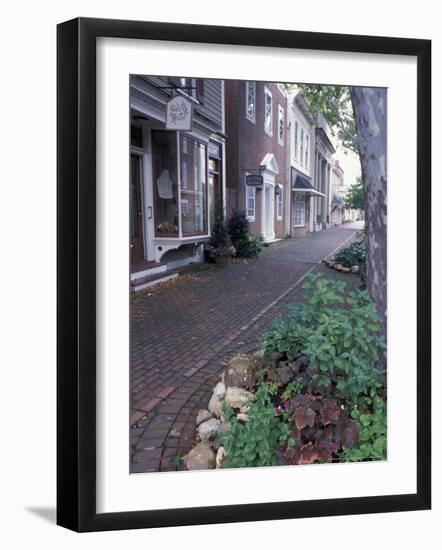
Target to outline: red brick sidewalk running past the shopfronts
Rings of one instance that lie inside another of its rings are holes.
[[[335,277],[319,262],[358,229],[309,233],[257,260],[207,266],[131,298],[132,473],[170,470],[170,459],[189,451],[197,412],[207,407],[226,361],[256,349],[285,305],[301,298],[297,282],[309,270]]]

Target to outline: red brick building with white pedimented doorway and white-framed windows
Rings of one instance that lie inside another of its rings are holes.
[[[281,84],[225,81],[226,206],[246,210],[250,230],[264,242],[289,228],[287,96]],[[262,176],[247,185],[246,176]]]

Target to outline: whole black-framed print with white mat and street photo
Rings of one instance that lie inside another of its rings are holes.
[[[58,513],[430,508],[427,40],[58,26]]]

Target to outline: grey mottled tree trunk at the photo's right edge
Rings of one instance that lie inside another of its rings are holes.
[[[386,339],[387,91],[383,88],[350,87],[350,97],[365,191],[367,288],[381,318]]]

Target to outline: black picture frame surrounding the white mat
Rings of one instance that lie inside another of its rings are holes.
[[[96,39],[115,37],[417,59],[417,492],[96,512]],[[431,506],[431,41],[79,18],[58,25],[57,523],[75,531],[425,510]]]

